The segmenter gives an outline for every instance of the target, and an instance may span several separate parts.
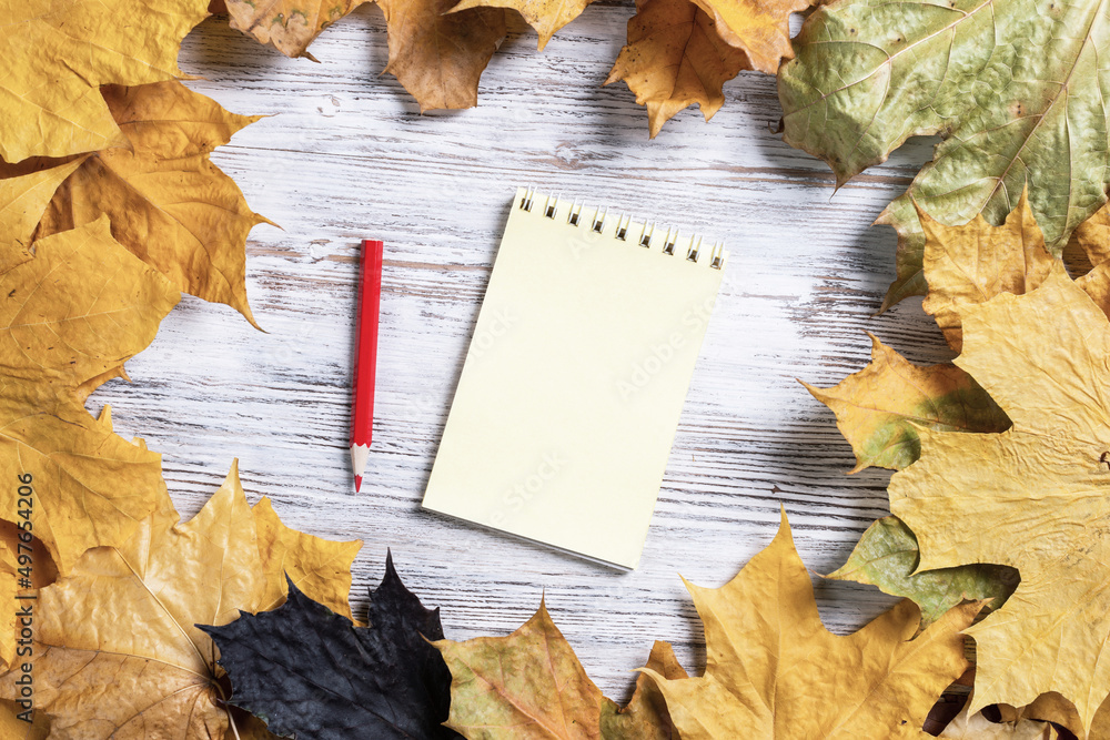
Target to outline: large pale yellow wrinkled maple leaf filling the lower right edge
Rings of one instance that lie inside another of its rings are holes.
[[[1025,295],[960,311],[957,364],[1013,425],[1001,434],[921,430],[921,457],[890,480],[890,508],[917,536],[919,570],[1017,568],[1021,582],[968,633],[977,645],[970,711],[1056,691],[1091,727],[1110,695],[1110,323],[1054,267]],[[1061,669],[1066,668],[1066,669]]]

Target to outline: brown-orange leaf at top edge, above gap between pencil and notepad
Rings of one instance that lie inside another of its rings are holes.
[[[456,13],[454,0],[377,0],[389,30],[390,61],[420,110],[473,108],[478,78],[505,38],[505,11]],[[451,12],[448,12],[451,11]]]

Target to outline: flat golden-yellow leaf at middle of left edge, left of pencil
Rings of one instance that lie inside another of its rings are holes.
[[[112,239],[107,217],[34,250],[0,274],[0,475],[31,476],[33,534],[64,572],[90,547],[128,541],[164,495],[160,456],[84,401],[153,339],[179,294]],[[0,519],[19,523],[17,499],[14,486],[0,490]]]

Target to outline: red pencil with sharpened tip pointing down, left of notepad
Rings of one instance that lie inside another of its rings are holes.
[[[362,241],[362,287],[359,292],[359,336],[354,347],[354,399],[351,409],[351,469],[354,489],[362,489],[362,474],[374,438],[374,376],[377,371],[377,317],[382,302],[382,243]]]

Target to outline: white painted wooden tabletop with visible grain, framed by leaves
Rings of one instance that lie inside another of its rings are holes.
[[[678,578],[719,586],[790,515],[806,564],[828,572],[887,510],[889,474],[846,476],[834,417],[795,381],[831,385],[867,363],[864,330],[918,363],[951,357],[908,301],[872,318],[895,235],[869,227],[929,159],[911,143],[834,196],[827,166],[783,144],[775,80],[744,73],[706,124],[696,110],[653,142],[623,83],[601,88],[632,2],[598,2],[536,53],[518,19],[480,107],[420,115],[385,65],[381,12],[364,6],[290,60],[210,19],[186,40],[191,82],[272,118],[213,156],[280,223],[248,244],[249,291],[268,333],[185,297],[153,345],[89,403],[162,453],[192,516],[240,459],[251,500],[291,526],[361,538],[356,614],[385,550],[448,637],[504,635],[547,606],[589,675],[623,700],[655,639],[690,671],[702,627]],[[638,570],[624,574],[420,509],[512,189],[536,184],[723,237],[726,284],[702,349]],[[362,495],[347,460],[360,240],[385,241],[376,434]],[[833,630],[892,602],[817,579]]]

